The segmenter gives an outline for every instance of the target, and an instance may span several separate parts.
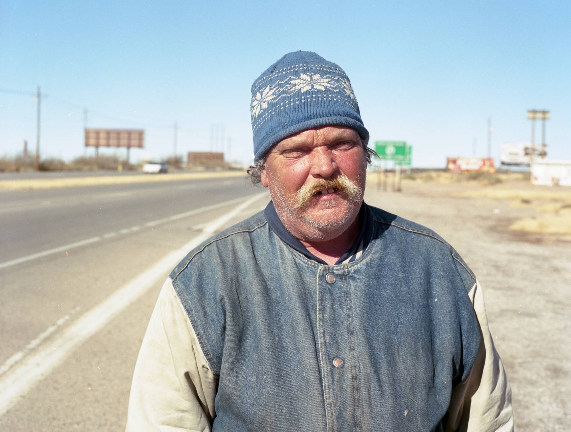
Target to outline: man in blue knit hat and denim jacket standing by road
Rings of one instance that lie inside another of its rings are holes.
[[[127,430],[510,431],[482,290],[433,231],[363,202],[344,71],[283,56],[252,85],[263,212],[172,271]]]

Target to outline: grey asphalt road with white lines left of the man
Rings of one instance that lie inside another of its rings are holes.
[[[0,191],[0,430],[124,429],[140,342],[180,248],[268,200],[244,178]]]

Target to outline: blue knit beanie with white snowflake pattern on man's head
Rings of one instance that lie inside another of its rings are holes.
[[[348,76],[315,52],[290,52],[272,64],[252,84],[250,108],[255,162],[305,129],[339,125],[369,137]]]

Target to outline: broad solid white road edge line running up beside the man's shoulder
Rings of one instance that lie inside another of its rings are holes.
[[[0,379],[0,416],[6,413],[20,397],[29,392],[40,380],[48,376],[71,352],[95,335],[104,325],[147,292],[149,288],[155,286],[159,278],[165,278],[168,272],[186,256],[188,251],[211,237],[216,230],[236,217],[240,211],[246,210],[256,200],[266,196],[266,193],[254,195],[254,197],[235,207],[234,210],[208,224],[192,241],[164,256],[148,270],[115,291],[107,300],[82,315],[50,344],[39,348],[32,356],[25,358],[18,367],[8,372]]]

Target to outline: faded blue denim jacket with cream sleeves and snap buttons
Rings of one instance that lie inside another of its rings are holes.
[[[479,283],[416,223],[327,266],[258,213],[191,251],[137,360],[128,431],[510,431]]]

